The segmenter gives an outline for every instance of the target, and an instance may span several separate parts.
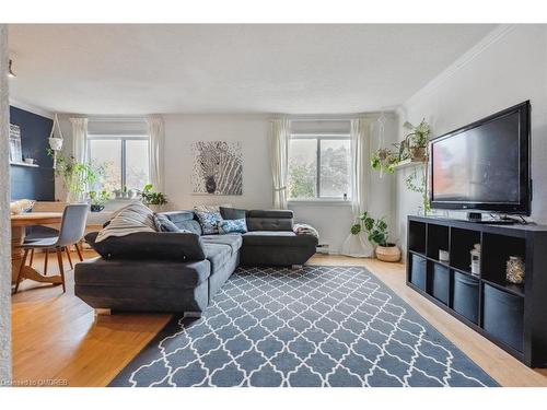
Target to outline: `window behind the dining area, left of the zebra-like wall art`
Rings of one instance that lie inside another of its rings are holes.
[[[148,137],[89,136],[89,157],[103,165],[103,188],[142,189],[149,183]]]

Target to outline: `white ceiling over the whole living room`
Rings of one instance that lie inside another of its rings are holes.
[[[81,114],[377,110],[494,26],[10,25],[10,96]]]

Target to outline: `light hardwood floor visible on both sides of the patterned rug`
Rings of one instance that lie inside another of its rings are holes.
[[[93,257],[91,251],[85,255]],[[366,267],[502,386],[547,386],[547,370],[524,366],[407,288],[404,265],[334,255],[316,255],[310,263]],[[55,265],[49,265],[51,273]],[[42,257],[35,257],[35,266],[43,267]],[[12,297],[14,379],[23,384],[55,379],[68,386],[106,386],[171,315],[95,317],[93,311],[74,296],[71,270],[67,272],[67,280],[66,294],[60,286],[24,281],[22,291]]]

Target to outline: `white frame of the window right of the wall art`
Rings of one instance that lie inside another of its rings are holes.
[[[289,136],[289,155],[288,160],[290,160],[290,143],[292,140],[316,140],[317,141],[317,147],[316,147],[316,167],[315,167],[315,197],[313,198],[287,198],[289,202],[350,202],[353,192],[352,192],[352,178],[353,175],[349,175],[349,192],[347,199],[344,199],[342,197],[322,197],[321,196],[321,142],[324,140],[333,141],[333,140],[345,140],[349,141],[350,144],[350,163],[353,162],[353,159],[351,157],[351,136],[349,133],[321,133],[321,132],[313,132],[313,133],[291,133]],[[352,164],[351,164],[352,165]],[[289,176],[289,161],[287,162],[287,175]],[[350,166],[352,169],[353,167]]]

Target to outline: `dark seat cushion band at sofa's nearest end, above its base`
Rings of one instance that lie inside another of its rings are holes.
[[[206,281],[209,273],[208,260],[181,263],[166,260],[133,262],[98,258],[78,263],[74,281],[79,286],[191,289]]]

